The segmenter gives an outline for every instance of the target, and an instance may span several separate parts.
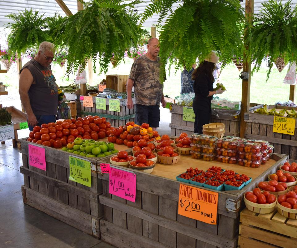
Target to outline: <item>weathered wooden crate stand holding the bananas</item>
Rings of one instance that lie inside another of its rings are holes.
[[[278,106],[283,108],[282,106]],[[297,122],[295,134],[273,133],[273,115],[244,113],[245,134],[247,139],[267,140],[274,146],[273,152],[287,154],[290,159],[297,159]]]

